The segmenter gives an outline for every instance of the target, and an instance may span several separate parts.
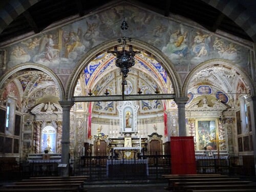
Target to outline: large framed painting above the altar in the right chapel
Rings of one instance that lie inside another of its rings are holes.
[[[217,150],[216,136],[219,133],[217,119],[196,120],[196,150]]]

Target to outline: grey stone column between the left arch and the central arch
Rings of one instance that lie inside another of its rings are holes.
[[[62,141],[61,141],[61,177],[69,177],[69,148],[70,148],[70,108],[74,105],[73,101],[59,101],[62,107]]]

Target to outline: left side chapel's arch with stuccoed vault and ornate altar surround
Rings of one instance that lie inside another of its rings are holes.
[[[62,109],[59,99],[64,98],[64,89],[59,78],[49,68],[35,63],[25,63],[12,68],[0,79],[1,108],[6,109],[8,100],[15,100],[15,114],[22,117],[20,157],[39,153],[40,132],[43,126],[51,125],[61,138]],[[8,137],[9,137],[8,136]],[[60,140],[58,141],[60,145]],[[55,152],[60,152],[56,146]]]

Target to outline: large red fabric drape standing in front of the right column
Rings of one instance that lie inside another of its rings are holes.
[[[170,137],[172,174],[196,174],[194,137]]]

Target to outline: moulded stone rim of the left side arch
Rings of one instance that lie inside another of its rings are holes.
[[[6,80],[12,74],[14,74],[20,70],[24,70],[24,69],[36,69],[36,70],[42,71],[42,72],[46,73],[47,75],[49,75],[50,77],[52,77],[53,80],[56,82],[56,85],[60,91],[60,100],[63,100],[63,98],[65,98],[65,91],[63,89],[62,83],[61,83],[60,79],[58,78],[58,76],[53,71],[51,71],[49,68],[39,65],[39,64],[35,64],[35,63],[25,63],[25,64],[18,65],[16,67],[12,68],[10,71],[5,73],[5,75],[0,79],[0,88],[2,89],[4,87]]]

